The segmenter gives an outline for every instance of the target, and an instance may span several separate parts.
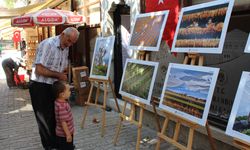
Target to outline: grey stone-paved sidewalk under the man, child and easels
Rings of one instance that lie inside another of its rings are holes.
[[[32,110],[29,92],[23,89],[9,89],[5,80],[0,80],[0,149],[1,150],[42,150],[38,128]],[[100,135],[101,123],[94,124],[92,119],[101,120],[101,110],[90,107],[85,121],[85,128],[80,128],[83,108],[72,106],[76,134],[74,142],[82,150],[134,150],[137,138],[137,127],[125,124],[120,132],[117,146],[113,139],[118,122],[118,113],[106,113],[106,133]],[[142,138],[156,138],[156,131],[147,127],[142,128]],[[162,142],[164,143],[164,142]],[[162,149],[175,149],[162,144]],[[142,150],[153,150],[155,144],[144,143]]]

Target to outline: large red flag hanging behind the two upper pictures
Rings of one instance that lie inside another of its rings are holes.
[[[163,40],[171,48],[175,29],[178,23],[180,4],[178,0],[146,0],[146,12],[169,10],[167,23],[163,32]]]

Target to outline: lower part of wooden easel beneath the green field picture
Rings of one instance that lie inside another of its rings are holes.
[[[140,149],[140,140],[141,140],[142,118],[143,118],[144,109],[146,108],[146,104],[136,102],[135,100],[130,99],[130,98],[125,97],[125,96],[123,96],[122,99],[124,100],[124,106],[123,106],[122,112],[120,113],[120,120],[119,120],[119,123],[117,125],[117,130],[116,130],[116,134],[115,134],[115,138],[114,138],[114,145],[116,145],[116,143],[117,143],[118,135],[120,133],[122,122],[129,121],[130,123],[133,123],[134,125],[136,125],[138,127],[137,140],[136,140],[136,150],[139,150]],[[128,102],[131,104],[131,109],[130,109],[129,116],[126,116],[125,110],[126,110],[126,106],[127,106]],[[140,109],[139,121],[136,121],[134,118],[135,117],[135,106],[137,106]]]

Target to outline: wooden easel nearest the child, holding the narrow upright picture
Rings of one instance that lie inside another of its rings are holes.
[[[120,112],[120,108],[119,108],[118,101],[117,101],[117,98],[116,98],[116,95],[115,95],[115,92],[114,92],[114,88],[113,88],[113,85],[112,85],[112,81],[111,81],[110,78],[108,78],[108,80],[89,78],[89,81],[91,83],[91,87],[90,87],[90,91],[89,91],[88,100],[86,102],[86,108],[85,108],[85,110],[83,112],[83,119],[82,119],[82,122],[81,122],[81,128],[84,127],[85,119],[86,119],[87,112],[88,112],[88,107],[89,106],[99,107],[99,108],[101,108],[103,110],[103,112],[102,112],[102,129],[101,129],[101,136],[103,137],[104,132],[105,132],[104,127],[105,127],[105,123],[106,123],[106,113],[105,112],[106,112],[106,102],[107,102],[107,96],[108,96],[108,84],[111,87],[112,94],[114,96],[115,104],[116,104],[118,112]],[[98,83],[98,87],[97,87],[97,91],[96,91],[95,102],[92,103],[91,102],[91,96],[92,96],[93,87],[94,87],[95,83]],[[103,96],[103,104],[102,105],[97,103],[98,97],[100,95],[101,84],[104,85],[104,96]]]

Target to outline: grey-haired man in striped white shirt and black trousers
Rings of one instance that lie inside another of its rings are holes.
[[[30,81],[30,97],[44,149],[56,148],[55,112],[52,84],[67,80],[69,47],[79,37],[68,27],[60,35],[43,40],[37,48]]]

